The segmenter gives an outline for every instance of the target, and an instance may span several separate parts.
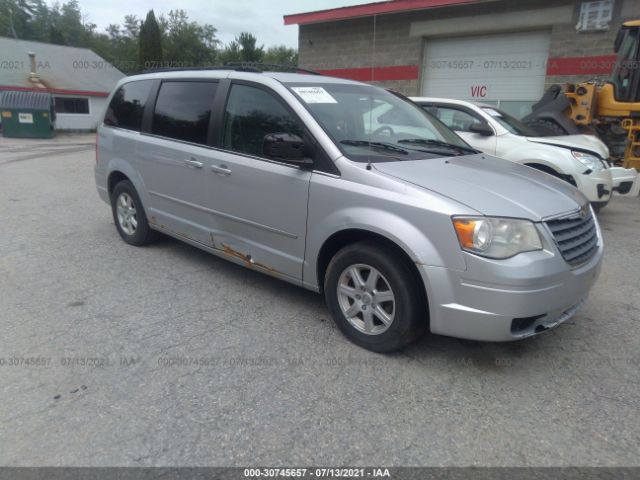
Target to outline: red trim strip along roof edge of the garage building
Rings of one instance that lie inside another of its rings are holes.
[[[389,13],[410,12],[431,8],[451,7],[479,3],[487,0],[391,0],[387,2],[365,3],[350,7],[331,8],[315,12],[294,13],[284,16],[285,25],[305,25],[308,23],[333,22],[350,18],[369,17]]]

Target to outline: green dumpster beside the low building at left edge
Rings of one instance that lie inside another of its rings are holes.
[[[6,90],[1,94],[0,117],[3,136],[53,137],[55,110],[51,94],[14,90]]]

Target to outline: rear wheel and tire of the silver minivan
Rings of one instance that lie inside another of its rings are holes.
[[[138,192],[129,180],[116,184],[111,193],[111,212],[120,237],[129,245],[147,245],[158,238],[149,227]]]

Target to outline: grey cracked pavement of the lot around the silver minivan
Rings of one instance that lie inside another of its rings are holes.
[[[378,355],[314,293],[126,245],[92,143],[0,139],[0,464],[639,465],[640,198],[560,328]]]

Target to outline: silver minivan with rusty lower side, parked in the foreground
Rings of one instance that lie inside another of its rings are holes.
[[[356,344],[425,330],[508,341],[555,327],[602,261],[587,199],[482,154],[400,96],[310,74],[121,80],[95,178],[131,245],[158,232],[324,293]]]

